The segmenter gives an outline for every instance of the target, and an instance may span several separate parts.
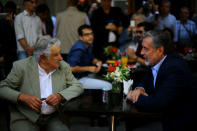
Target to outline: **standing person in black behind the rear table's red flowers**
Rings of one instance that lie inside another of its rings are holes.
[[[122,33],[124,14],[119,7],[111,7],[111,0],[101,0],[101,7],[91,17],[94,32],[93,53],[96,58],[105,61],[104,48],[113,45],[118,47],[118,38]]]

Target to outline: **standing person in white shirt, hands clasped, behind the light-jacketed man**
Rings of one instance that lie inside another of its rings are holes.
[[[18,59],[31,56],[34,44],[42,35],[41,20],[35,14],[36,0],[24,0],[25,10],[14,21]]]

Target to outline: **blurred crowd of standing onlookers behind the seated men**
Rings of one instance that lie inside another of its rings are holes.
[[[106,61],[104,48],[109,45],[119,48],[121,53],[126,52],[130,59],[140,58],[140,36],[148,30],[169,32],[181,56],[196,52],[196,15],[191,14],[188,7],[177,9],[179,13],[173,15],[170,1],[147,0],[132,14],[112,7],[111,3],[111,0],[67,0],[67,9],[57,17],[51,15],[46,4],[37,5],[34,0],[24,3],[24,12],[19,12],[13,1],[1,4],[1,78],[9,73],[13,61],[32,55],[33,46],[41,35],[60,39],[61,55],[67,61],[71,47],[78,40],[77,29],[83,24],[92,27],[93,54],[103,62]],[[144,29],[140,29],[142,25]],[[138,62],[145,64],[143,60]]]

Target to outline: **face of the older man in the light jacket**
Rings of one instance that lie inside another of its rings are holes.
[[[57,69],[60,64],[59,62],[62,60],[62,56],[60,54],[60,46],[56,45],[51,48],[51,54],[49,59],[47,59],[46,64],[50,69]]]

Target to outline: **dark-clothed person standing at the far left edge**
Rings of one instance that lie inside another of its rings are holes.
[[[4,7],[6,17],[0,20],[0,45],[1,56],[4,62],[5,76],[10,72],[12,63],[17,60],[16,37],[14,30],[14,16],[16,14],[16,4],[8,1]]]

